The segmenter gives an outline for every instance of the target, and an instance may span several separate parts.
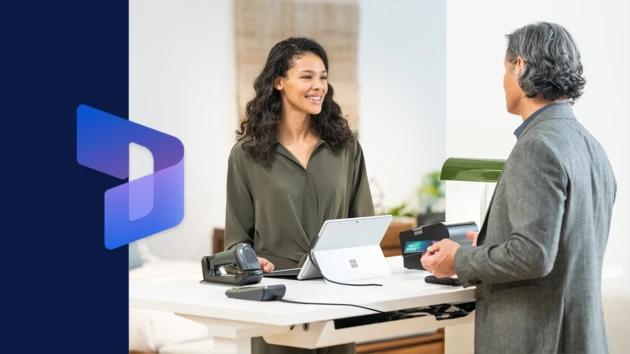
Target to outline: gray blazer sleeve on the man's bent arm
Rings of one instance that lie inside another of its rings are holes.
[[[541,278],[553,269],[568,176],[544,142],[531,139],[519,145],[504,181],[511,234],[501,244],[457,250],[455,272],[464,286]]]

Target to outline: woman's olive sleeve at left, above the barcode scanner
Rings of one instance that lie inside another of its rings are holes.
[[[225,249],[239,243],[254,245],[254,204],[239,160],[228,159],[225,215]]]

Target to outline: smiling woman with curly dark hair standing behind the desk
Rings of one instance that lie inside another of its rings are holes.
[[[228,162],[225,248],[246,242],[263,271],[304,262],[324,221],[374,215],[365,161],[328,83],[324,49],[307,38],[276,44]],[[252,341],[254,353],[317,351]]]

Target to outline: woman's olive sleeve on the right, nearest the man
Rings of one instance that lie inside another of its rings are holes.
[[[363,156],[363,148],[358,141],[356,142],[354,155],[352,183],[352,196],[350,198],[348,217],[374,216],[374,201],[372,200],[372,192],[370,191],[365,157]]]

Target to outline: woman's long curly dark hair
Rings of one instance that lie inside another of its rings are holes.
[[[245,139],[243,149],[251,157],[268,165],[272,147],[272,138],[280,122],[282,100],[274,88],[274,80],[284,77],[293,65],[293,60],[306,53],[317,55],[328,69],[326,51],[310,38],[288,38],[277,43],[269,52],[265,67],[254,82],[255,97],[247,103],[245,119],[236,134],[238,139]],[[349,146],[354,139],[348,121],[342,116],[341,107],[333,100],[333,87],[328,84],[328,92],[318,115],[311,116],[310,124],[314,133],[324,139],[333,153]]]

